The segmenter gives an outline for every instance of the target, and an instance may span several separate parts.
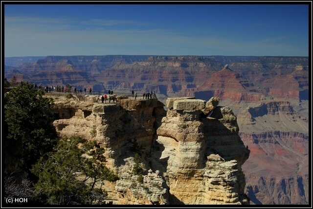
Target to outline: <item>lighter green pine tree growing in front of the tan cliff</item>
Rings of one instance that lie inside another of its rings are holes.
[[[95,142],[71,137],[61,139],[56,150],[43,156],[32,169],[39,177],[34,192],[37,201],[51,205],[105,204],[106,191],[95,188],[95,184],[118,177],[103,164],[103,149]]]

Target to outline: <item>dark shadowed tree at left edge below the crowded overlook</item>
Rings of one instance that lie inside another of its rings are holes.
[[[57,118],[52,112],[53,100],[43,94],[25,83],[4,98],[5,156],[21,161],[24,171],[29,171],[31,165],[50,152],[58,141],[52,124]]]

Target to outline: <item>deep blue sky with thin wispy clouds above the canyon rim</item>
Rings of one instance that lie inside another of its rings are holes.
[[[309,56],[310,2],[199,3],[3,4],[4,56]]]

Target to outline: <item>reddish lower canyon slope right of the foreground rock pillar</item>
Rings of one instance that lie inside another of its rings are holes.
[[[296,113],[286,101],[261,102],[247,107],[237,118],[243,127],[239,135],[251,151],[243,165],[251,201],[307,205],[308,118]]]

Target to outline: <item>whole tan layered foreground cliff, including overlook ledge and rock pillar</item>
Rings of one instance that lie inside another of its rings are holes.
[[[157,99],[99,104],[92,97],[55,97],[62,118],[54,126],[63,137],[102,143],[107,166],[120,178],[102,185],[113,204],[249,204],[242,166],[250,151],[236,116],[217,106],[218,97],[168,98],[168,111]],[[142,183],[130,172],[134,142],[142,148]]]

